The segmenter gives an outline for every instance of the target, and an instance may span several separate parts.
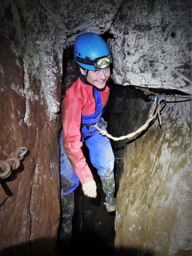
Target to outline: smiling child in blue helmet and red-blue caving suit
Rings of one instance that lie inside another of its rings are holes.
[[[91,198],[97,196],[96,183],[81,150],[83,142],[87,145],[90,161],[101,178],[107,211],[112,212],[117,208],[111,143],[108,137],[99,134],[92,127],[97,124],[99,128],[106,130],[102,111],[110,91],[106,84],[111,76],[112,62],[108,44],[100,35],[85,32],[75,39],[74,58],[78,72],[74,76],[73,70],[70,70],[62,88],[66,90],[62,90],[64,95],[61,102],[61,204],[65,212],[62,224],[64,215],[69,216],[66,198],[79,186],[79,181],[84,195]]]

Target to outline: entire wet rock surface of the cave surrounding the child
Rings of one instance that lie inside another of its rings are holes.
[[[152,97],[138,87],[191,94],[190,9],[188,0],[0,2],[0,160],[28,148],[19,168],[0,179],[0,255],[58,255],[64,49],[85,31],[108,40],[114,83],[104,116],[108,133],[120,137],[140,128],[151,109]],[[132,140],[111,140],[116,215],[106,212],[97,175],[95,201],[77,189],[76,253],[95,246],[106,255],[190,255],[190,101],[167,99],[161,117],[161,128],[157,118]]]

